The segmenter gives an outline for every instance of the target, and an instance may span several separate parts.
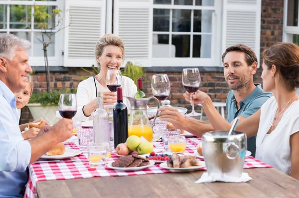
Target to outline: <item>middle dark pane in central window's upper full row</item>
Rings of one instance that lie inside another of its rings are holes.
[[[190,9],[173,9],[172,10],[172,31],[173,32],[190,32]]]

